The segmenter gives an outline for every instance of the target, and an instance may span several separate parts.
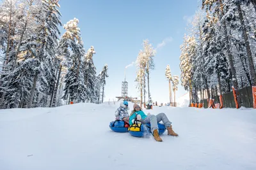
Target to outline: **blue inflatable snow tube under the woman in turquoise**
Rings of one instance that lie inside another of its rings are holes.
[[[158,124],[159,135],[163,134],[165,131],[165,126],[163,124]],[[150,133],[150,124],[142,124],[140,127],[140,131],[129,131],[129,134],[131,134],[131,136],[138,138],[147,137]]]

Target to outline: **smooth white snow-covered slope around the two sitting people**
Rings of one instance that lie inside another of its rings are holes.
[[[111,131],[117,107],[0,110],[0,169],[256,169],[255,110],[155,106],[179,134],[159,143]]]

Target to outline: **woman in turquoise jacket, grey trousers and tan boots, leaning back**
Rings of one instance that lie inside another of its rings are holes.
[[[140,116],[139,116],[140,115]],[[140,106],[138,104],[134,104],[133,105],[133,110],[132,113],[130,115],[129,118],[129,124],[132,125],[132,122],[134,121],[134,119],[136,118],[137,120],[140,119],[141,117],[141,122],[143,124],[148,124],[150,123],[150,130],[154,136],[154,138],[156,139],[156,141],[163,141],[160,137],[159,137],[159,133],[158,133],[158,122],[163,121],[167,131],[168,131],[168,135],[171,136],[178,136],[177,133],[175,133],[172,129],[172,122],[170,122],[168,120],[168,118],[166,117],[166,115],[164,113],[159,113],[158,115],[145,115],[145,113],[141,110]]]

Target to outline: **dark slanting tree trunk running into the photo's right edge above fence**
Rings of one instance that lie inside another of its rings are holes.
[[[239,3],[237,3],[237,9],[238,9],[238,13],[239,13],[239,20],[240,20],[241,26],[242,26],[244,43],[246,46],[246,53],[248,55],[248,60],[249,60],[250,73],[251,73],[251,77],[252,77],[252,85],[256,85],[256,73],[255,73],[254,64],[253,64],[252,51],[251,51],[250,44],[248,41],[246,28],[244,26],[244,18],[243,18],[242,9],[241,9],[241,6]]]

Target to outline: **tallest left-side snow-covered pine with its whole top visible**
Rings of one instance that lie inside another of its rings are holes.
[[[66,32],[63,36],[67,39],[67,44],[72,50],[72,54],[68,61],[72,61],[72,66],[68,67],[65,75],[65,88],[63,99],[68,103],[79,103],[85,101],[88,97],[86,94],[86,85],[84,84],[83,62],[82,57],[85,55],[83,42],[81,40],[80,29],[78,27],[79,20],[74,18],[64,25]]]

